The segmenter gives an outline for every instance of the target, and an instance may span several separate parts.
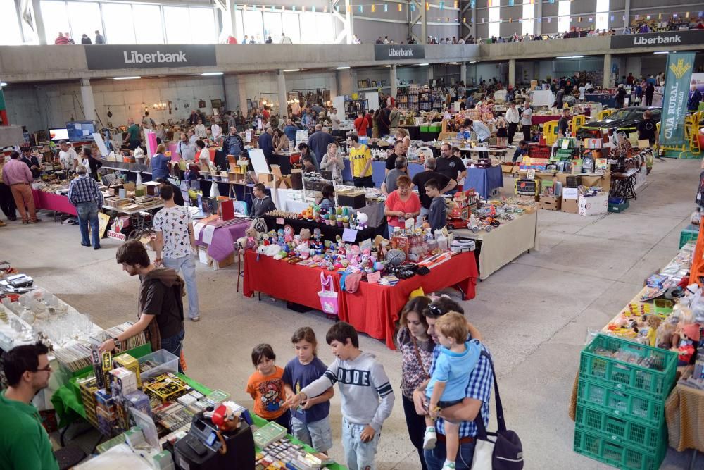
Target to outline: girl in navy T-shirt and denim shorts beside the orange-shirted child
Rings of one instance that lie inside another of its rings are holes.
[[[327,371],[327,366],[318,359],[318,341],[311,328],[298,328],[291,337],[291,342],[294,344],[296,357],[286,364],[283,376],[284,389],[289,398]],[[294,437],[318,452],[327,453],[332,447],[328,414],[333,395],[334,390],[331,387],[322,395],[308,398],[296,409],[291,409],[291,430]]]

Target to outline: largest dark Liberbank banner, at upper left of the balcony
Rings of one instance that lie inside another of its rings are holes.
[[[214,44],[86,46],[88,70],[216,66]]]

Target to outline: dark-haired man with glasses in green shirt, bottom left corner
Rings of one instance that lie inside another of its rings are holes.
[[[0,462],[4,469],[58,470],[49,435],[32,398],[49,386],[51,366],[41,342],[18,346],[4,357],[8,388],[0,393]]]

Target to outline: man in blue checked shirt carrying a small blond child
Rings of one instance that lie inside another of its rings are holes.
[[[435,331],[435,322],[440,316],[447,314],[450,311],[456,311],[459,314],[464,314],[460,305],[449,297],[440,297],[435,299],[425,311],[425,320],[428,323],[428,334],[435,342],[436,346],[433,350],[433,364],[429,374],[432,376],[435,363],[440,355],[440,341]],[[482,340],[474,326],[467,323],[467,329],[470,331],[470,338]],[[489,350],[482,344],[482,350],[489,354]],[[456,404],[441,410],[440,417],[435,423],[437,442],[434,449],[425,450],[425,463],[429,470],[446,469],[444,462],[446,459],[446,439],[444,420],[450,419],[453,422],[460,422],[460,448],[457,452],[457,460],[455,469],[469,470],[472,466],[472,458],[474,457],[474,446],[476,445],[477,424],[474,419],[479,412],[482,414],[484,426],[489,426],[489,399],[491,398],[491,388],[494,386],[494,377],[491,374],[491,360],[482,354],[479,357],[477,366],[467,378],[467,386],[465,387],[465,399],[461,404]],[[427,381],[420,385],[413,392],[413,404],[417,414],[425,416],[427,412],[427,398],[425,397],[425,388]]]

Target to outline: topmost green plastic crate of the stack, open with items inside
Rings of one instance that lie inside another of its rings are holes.
[[[596,354],[598,350],[627,350],[651,361],[650,367],[619,361]],[[677,373],[677,353],[658,347],[641,345],[607,335],[597,335],[582,350],[579,360],[580,377],[607,387],[637,393],[665,401],[674,387]]]

